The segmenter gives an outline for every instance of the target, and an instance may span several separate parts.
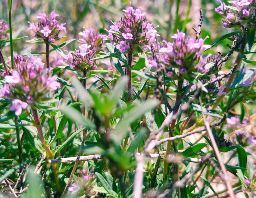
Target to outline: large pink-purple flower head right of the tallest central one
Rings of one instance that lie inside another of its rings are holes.
[[[171,38],[174,41],[165,42],[165,46],[160,49],[164,62],[179,68],[180,74],[186,74],[194,69],[205,72],[206,59],[203,58],[202,53],[206,48],[210,48],[210,45],[204,44],[205,39],[187,38],[185,33],[179,31]]]

